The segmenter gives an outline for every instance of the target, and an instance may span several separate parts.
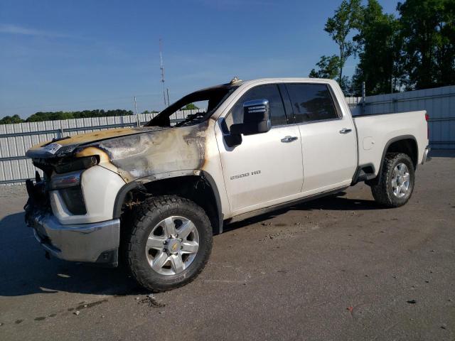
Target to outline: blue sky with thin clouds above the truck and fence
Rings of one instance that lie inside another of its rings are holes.
[[[162,109],[159,38],[171,102],[235,75],[306,77],[337,52],[323,26],[340,1],[0,0],[0,117],[133,109],[134,95]]]

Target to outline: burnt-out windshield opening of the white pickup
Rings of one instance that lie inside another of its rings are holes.
[[[215,109],[235,90],[232,85],[220,85],[209,89],[200,90],[187,94],[185,97],[178,99],[177,102],[164,109],[156,117],[151,119],[146,126],[171,126],[171,115],[186,107],[188,104],[196,102],[205,102],[206,108],[200,108],[200,112],[188,115],[185,121],[181,121],[176,126],[198,124],[208,119]]]

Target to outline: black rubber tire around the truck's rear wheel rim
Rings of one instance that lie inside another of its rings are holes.
[[[392,190],[393,171],[397,165],[404,163],[410,175],[409,188],[403,197],[397,197]],[[376,202],[385,207],[400,207],[405,205],[414,190],[414,164],[405,153],[386,153],[382,164],[378,183],[371,186],[371,192]]]

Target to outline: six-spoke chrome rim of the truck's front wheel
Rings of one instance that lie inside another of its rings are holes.
[[[171,276],[180,274],[196,258],[199,234],[186,217],[171,216],[151,230],[146,242],[146,257],[152,270]]]

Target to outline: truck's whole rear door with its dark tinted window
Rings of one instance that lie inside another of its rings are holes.
[[[343,115],[330,85],[286,85],[299,126],[308,195],[349,185],[357,167],[357,141],[350,115]]]

